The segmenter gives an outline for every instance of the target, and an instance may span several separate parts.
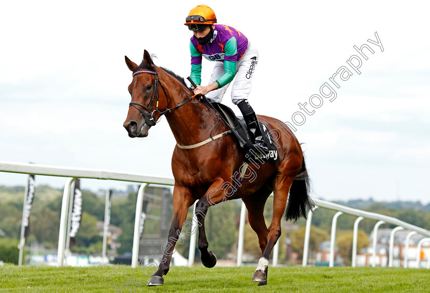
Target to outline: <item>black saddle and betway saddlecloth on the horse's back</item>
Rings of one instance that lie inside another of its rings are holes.
[[[252,145],[252,142],[248,134],[248,127],[242,116],[236,117],[232,109],[220,103],[210,103],[210,106],[218,112],[223,121],[230,128],[231,133],[233,133],[234,137],[238,140],[240,147],[243,149],[244,161],[246,163],[251,163],[252,161],[260,163],[279,162],[278,151],[274,144],[272,134],[267,129],[266,125],[259,121],[261,129],[263,130],[264,143],[269,149],[268,152],[256,146],[249,147]]]

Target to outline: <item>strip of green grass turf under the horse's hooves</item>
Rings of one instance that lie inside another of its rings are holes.
[[[255,267],[171,267],[164,286],[130,266],[0,267],[0,292],[116,292],[133,277],[134,292],[429,292],[428,269],[370,267],[269,267],[267,286],[251,282]],[[139,287],[140,285],[140,287]],[[123,292],[132,292],[122,287]]]

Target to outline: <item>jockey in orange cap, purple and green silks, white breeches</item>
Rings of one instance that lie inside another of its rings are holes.
[[[231,101],[238,105],[248,126],[252,143],[268,150],[263,131],[254,110],[248,103],[252,76],[259,60],[259,52],[240,31],[224,25],[215,25],[217,17],[206,5],[189,12],[185,25],[193,32],[189,43],[191,51],[191,79],[197,85],[194,94],[206,95],[210,102],[221,102],[228,85],[236,76]],[[209,84],[201,86],[202,56],[215,62]]]

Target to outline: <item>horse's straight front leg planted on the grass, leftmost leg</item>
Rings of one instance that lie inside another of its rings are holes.
[[[188,208],[193,203],[190,191],[184,187],[175,186],[173,190],[173,220],[170,224],[167,242],[163,244],[161,250],[163,257],[157,272],[149,279],[147,286],[163,285],[163,276],[167,274],[170,267],[171,256],[173,255],[175,244],[179,239],[182,224],[187,218]]]

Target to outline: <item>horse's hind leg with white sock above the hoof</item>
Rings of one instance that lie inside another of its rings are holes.
[[[269,256],[272,252],[273,246],[279,239],[279,236],[281,236],[281,219],[287,206],[288,191],[295,175],[296,172],[294,172],[294,176],[276,176],[273,181],[273,217],[269,226],[266,248],[263,252],[263,256],[259,260],[259,265],[252,276],[252,281],[254,282],[267,281]]]

